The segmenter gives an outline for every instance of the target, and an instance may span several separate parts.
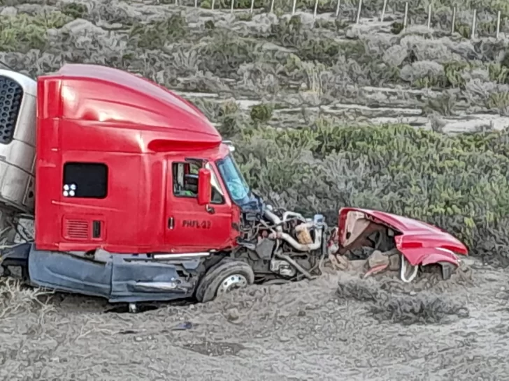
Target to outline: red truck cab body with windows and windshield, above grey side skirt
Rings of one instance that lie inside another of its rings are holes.
[[[79,64],[38,77],[37,93],[38,250],[234,246],[250,189],[194,105],[131,73]]]

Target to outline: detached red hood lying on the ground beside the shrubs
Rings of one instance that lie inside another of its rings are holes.
[[[425,265],[437,262],[458,264],[456,254],[468,255],[466,246],[444,230],[423,221],[384,211],[352,207],[341,208],[339,210],[340,232],[349,211],[362,212],[374,223],[386,225],[394,230],[396,233],[396,237],[394,237],[396,248],[414,266],[416,264]]]

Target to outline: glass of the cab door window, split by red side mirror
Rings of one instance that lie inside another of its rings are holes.
[[[173,195],[176,197],[198,197],[198,171],[200,167],[195,163],[172,163]],[[224,203],[224,197],[212,180],[212,204]]]

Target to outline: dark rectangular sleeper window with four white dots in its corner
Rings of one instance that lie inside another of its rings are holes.
[[[106,198],[108,166],[103,163],[65,163],[64,197]]]

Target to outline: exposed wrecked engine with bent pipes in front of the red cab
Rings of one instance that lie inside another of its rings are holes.
[[[324,216],[304,218],[284,209],[264,208],[263,216],[245,221],[234,256],[248,262],[257,283],[313,279],[327,255]]]

